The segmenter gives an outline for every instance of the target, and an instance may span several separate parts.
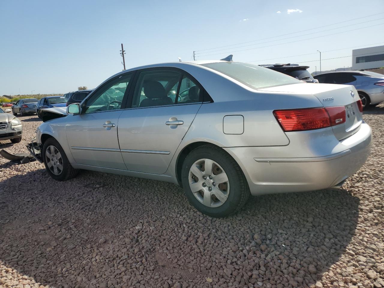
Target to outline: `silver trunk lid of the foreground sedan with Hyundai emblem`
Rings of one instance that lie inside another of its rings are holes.
[[[319,99],[319,107],[345,107],[345,122],[332,126],[333,133],[338,140],[347,138],[357,132],[362,123],[362,113],[357,101],[358,92],[351,85],[340,84],[291,84],[260,89],[260,91],[275,91],[293,94],[312,94]]]

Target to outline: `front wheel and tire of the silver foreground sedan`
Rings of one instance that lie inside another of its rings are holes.
[[[48,152],[47,149],[49,149]],[[63,148],[54,138],[49,138],[44,142],[41,156],[45,169],[55,180],[66,181],[75,177],[78,173],[78,169],[72,167]],[[54,156],[55,158],[49,159],[48,156]]]

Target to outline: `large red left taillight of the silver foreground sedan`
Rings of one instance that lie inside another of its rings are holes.
[[[345,122],[345,107],[306,108],[273,111],[285,132],[321,129]]]

